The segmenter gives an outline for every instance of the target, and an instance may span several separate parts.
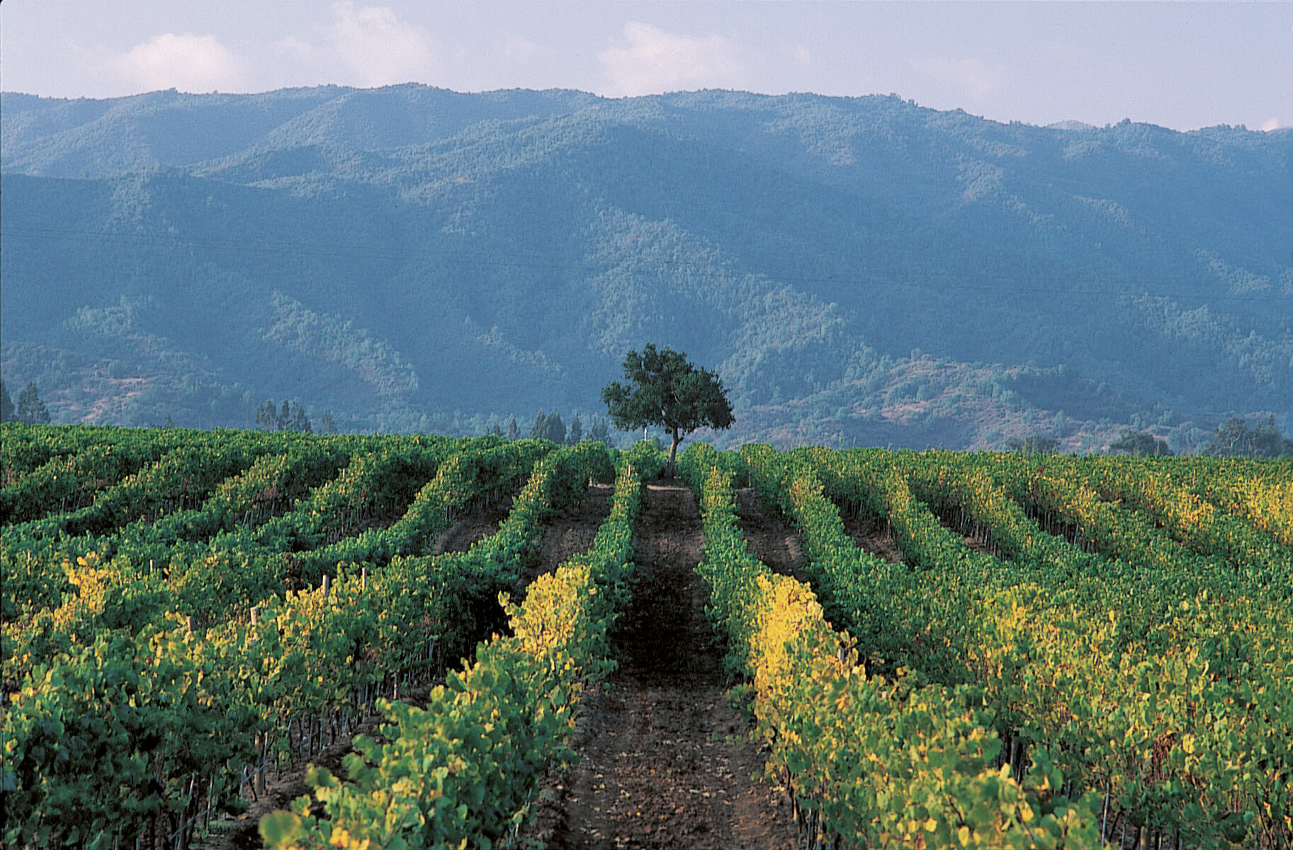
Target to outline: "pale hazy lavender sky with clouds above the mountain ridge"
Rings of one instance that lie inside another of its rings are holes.
[[[0,87],[897,93],[1007,121],[1293,127],[1293,3],[5,0]]]

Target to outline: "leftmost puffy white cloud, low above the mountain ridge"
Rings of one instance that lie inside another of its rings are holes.
[[[116,70],[149,89],[231,90],[243,78],[243,61],[215,36],[166,32],[116,58]]]

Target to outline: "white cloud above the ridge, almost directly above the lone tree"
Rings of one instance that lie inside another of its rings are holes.
[[[734,87],[745,71],[731,39],[672,35],[636,21],[625,25],[623,41],[599,53],[597,61],[613,97]]]

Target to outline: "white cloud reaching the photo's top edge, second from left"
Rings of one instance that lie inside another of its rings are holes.
[[[431,81],[438,70],[431,39],[422,27],[402,23],[387,6],[332,5],[325,37],[362,85]]]

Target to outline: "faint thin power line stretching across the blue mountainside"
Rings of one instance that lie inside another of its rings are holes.
[[[402,248],[393,245],[353,245],[353,244],[327,244],[272,239],[248,238],[220,238],[220,236],[181,236],[176,234],[147,234],[124,233],[110,230],[76,230],[63,227],[0,227],[0,235],[26,236],[34,239],[72,240],[72,242],[116,242],[119,244],[133,244],[138,247],[155,248],[208,248],[237,251],[240,253],[282,254],[312,257],[318,260],[415,260],[436,262],[443,265],[469,265],[508,269],[529,269],[542,271],[593,271],[628,267],[631,270],[653,270],[657,274],[667,270],[688,270],[709,278],[731,278],[733,275],[753,275],[777,283],[821,283],[842,284],[853,282],[865,285],[884,285],[922,289],[946,289],[946,283],[956,283],[956,291],[974,292],[1012,292],[1029,295],[1063,295],[1063,296],[1099,296],[1099,297],[1166,297],[1166,298],[1200,298],[1206,301],[1231,301],[1268,304],[1287,293],[1275,287],[1265,297],[1218,295],[1215,291],[1227,287],[1221,282],[1186,282],[1186,280],[1144,280],[1134,278],[1062,278],[1055,275],[1010,275],[1010,274],[983,274],[971,271],[939,271],[939,270],[895,270],[855,267],[825,271],[821,269],[809,270],[806,266],[768,266],[750,264],[707,264],[694,260],[605,260],[596,261],[583,258],[577,262],[562,260],[555,256],[520,253],[506,251],[469,252],[469,251],[437,251],[428,248]],[[877,279],[890,278],[890,279]],[[896,279],[895,279],[896,278]],[[905,278],[905,279],[904,279]],[[912,278],[917,278],[913,280]],[[1090,288],[1038,288],[1010,285],[972,285],[965,280],[996,280],[1014,283],[1042,283],[1042,284],[1093,284],[1103,287],[1127,287],[1124,289],[1090,289]],[[1214,292],[1160,292],[1156,289],[1166,287],[1192,287],[1210,288]],[[1135,288],[1135,289],[1133,289]]]

